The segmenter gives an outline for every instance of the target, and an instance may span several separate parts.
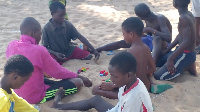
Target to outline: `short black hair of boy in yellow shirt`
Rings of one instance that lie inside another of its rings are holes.
[[[34,70],[33,64],[23,55],[11,56],[4,66],[4,74],[16,73],[25,77]]]

